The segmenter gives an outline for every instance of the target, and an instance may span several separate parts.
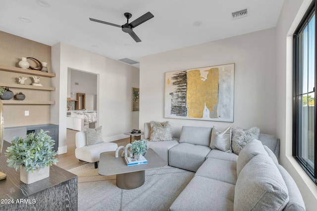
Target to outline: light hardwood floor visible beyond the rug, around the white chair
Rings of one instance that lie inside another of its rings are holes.
[[[85,164],[86,162],[79,161],[75,157],[75,134],[76,130],[67,129],[67,137],[66,137],[66,143],[67,143],[67,153],[57,155],[56,158],[58,159],[58,162],[56,166],[62,168],[62,169],[72,169],[74,167],[80,166]],[[126,144],[130,143],[130,138],[124,138],[120,140],[113,141],[113,143],[117,143],[118,146],[125,146]]]

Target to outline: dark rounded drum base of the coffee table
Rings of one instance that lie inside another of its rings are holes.
[[[121,189],[130,190],[138,188],[144,184],[145,170],[121,173],[116,176],[117,186]]]

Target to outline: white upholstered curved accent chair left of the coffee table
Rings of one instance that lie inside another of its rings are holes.
[[[79,131],[75,135],[76,149],[75,156],[80,161],[94,163],[95,169],[98,168],[100,153],[115,151],[118,148],[116,143],[103,142],[95,145],[87,145],[87,132]]]

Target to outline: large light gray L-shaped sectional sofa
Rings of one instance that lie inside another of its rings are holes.
[[[278,164],[279,139],[261,134],[239,153],[211,149],[211,127],[182,127],[180,138],[151,141],[148,147],[169,166],[196,172],[170,211],[305,211],[299,189]]]

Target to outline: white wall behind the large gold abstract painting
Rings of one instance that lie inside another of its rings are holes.
[[[144,56],[140,62],[140,128],[169,121],[173,134],[182,126],[225,128],[257,126],[275,135],[275,29]],[[165,119],[164,73],[235,63],[234,123]]]

